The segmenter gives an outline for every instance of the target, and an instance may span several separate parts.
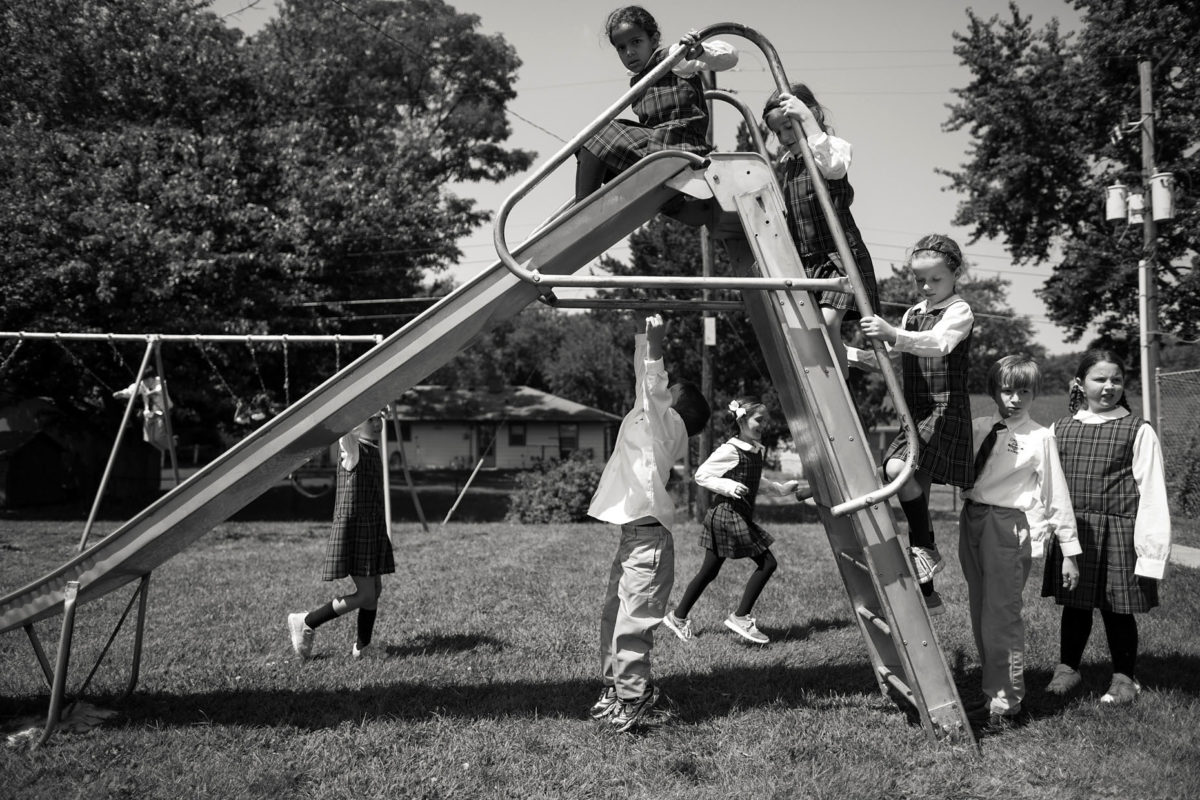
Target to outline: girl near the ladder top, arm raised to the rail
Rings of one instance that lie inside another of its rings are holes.
[[[850,204],[854,201],[854,187],[850,185],[848,178],[852,148],[845,139],[829,133],[824,121],[826,109],[817,102],[811,89],[802,83],[792,84],[791,89],[791,94],[776,90],[768,97],[762,118],[779,139],[779,144],[787,149],[781,164],[787,227],[792,233],[792,241],[810,277],[846,276],[846,267],[838,253],[838,242],[817,200],[814,178],[809,174],[800,154],[800,143],[792,130],[792,120],[796,120],[808,139],[812,161],[829,188],[829,199],[863,277],[871,308],[878,308],[880,294],[875,282],[875,264],[850,212]],[[821,291],[817,294],[817,303],[826,330],[829,331],[838,368],[845,372],[846,345],[841,341],[841,323],[844,319],[853,320],[860,315],[854,295],[845,291]]]

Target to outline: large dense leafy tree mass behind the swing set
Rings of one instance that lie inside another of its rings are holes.
[[[242,41],[205,5],[0,11],[8,329],[374,332],[314,303],[422,294],[487,216],[445,186],[530,161],[503,146],[520,62],[478,17],[292,0]],[[22,393],[127,383],[110,357],[89,377],[31,350],[5,375]],[[246,359],[220,367],[252,380]]]

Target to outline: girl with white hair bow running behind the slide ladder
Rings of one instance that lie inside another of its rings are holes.
[[[762,477],[762,426],[766,417],[767,407],[752,397],[730,402],[730,428],[733,435],[696,470],[696,482],[714,495],[713,505],[704,515],[704,530],[700,536],[704,563],[688,584],[683,600],[662,619],[684,642],[692,638],[691,620],[688,618],[691,607],[716,578],[727,558],[752,559],[755,571],[746,581],[742,603],[725,618],[725,626],[756,644],[770,640],[755,625],[754,616],[750,616],[755,601],[778,566],[770,552],[774,539],[754,521],[754,501],[762,489],[780,497],[792,494],[799,482],[775,483]]]

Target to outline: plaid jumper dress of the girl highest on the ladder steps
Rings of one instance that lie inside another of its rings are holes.
[[[800,254],[804,269],[811,278],[839,278],[845,277],[846,269],[838,253],[838,242],[833,237],[829,223],[826,221],[824,211],[817,200],[816,190],[812,186],[812,176],[809,174],[803,158],[788,157],[784,160],[784,199],[787,203],[787,228],[792,231],[792,241]],[[850,185],[848,178],[826,181],[829,187],[829,199],[838,215],[838,222],[846,234],[846,242],[850,252],[854,257],[858,271],[863,276],[866,287],[866,295],[871,301],[871,309],[878,311],[880,290],[875,283],[875,264],[871,263],[871,254],[866,251],[863,235],[858,231],[854,217],[850,213],[850,204],[854,201],[854,187]],[[818,291],[816,293],[817,305],[826,308],[841,308],[846,311],[846,319],[858,319],[858,306],[854,303],[854,295],[842,291]]]

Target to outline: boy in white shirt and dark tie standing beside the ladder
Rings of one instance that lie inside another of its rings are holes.
[[[1026,356],[1004,356],[988,371],[996,413],[972,421],[974,486],[959,521],[959,560],[967,579],[971,630],[983,667],[985,700],[967,709],[972,724],[1016,716],[1025,697],[1025,622],[1021,593],[1033,552],[1057,537],[1068,585],[1079,581],[1067,480],[1054,433],[1030,419],[1042,372]]]

